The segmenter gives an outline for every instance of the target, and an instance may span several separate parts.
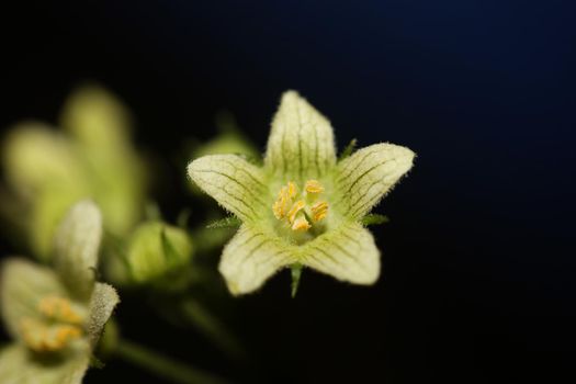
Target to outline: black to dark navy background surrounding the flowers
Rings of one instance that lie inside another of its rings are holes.
[[[133,110],[140,147],[176,165],[182,138],[211,137],[222,108],[263,148],[281,92],[296,89],[341,146],[418,154],[377,210],[392,218],[373,229],[380,282],[310,272],[291,300],[282,273],[238,300],[230,326],[250,364],[129,300],[124,332],[246,383],[573,382],[561,379],[576,341],[571,3],[23,4],[0,13],[0,126],[55,122],[68,91],[97,80]],[[169,217],[193,202],[184,169],[172,172],[157,191]],[[156,382],[120,362],[89,379]]]

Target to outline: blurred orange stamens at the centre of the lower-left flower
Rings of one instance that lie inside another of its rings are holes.
[[[36,352],[59,351],[79,339],[84,321],[82,308],[59,296],[46,296],[38,302],[42,318],[25,317],[21,331],[26,346]]]

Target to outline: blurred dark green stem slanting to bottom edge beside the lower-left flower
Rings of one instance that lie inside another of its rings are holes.
[[[118,358],[177,384],[226,384],[208,372],[173,361],[132,341],[118,340]]]

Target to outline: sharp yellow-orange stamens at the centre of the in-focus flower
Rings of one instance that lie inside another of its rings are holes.
[[[272,205],[274,216],[290,225],[292,230],[307,231],[328,215],[328,203],[320,199],[324,187],[317,180],[308,180],[302,193],[292,181],[282,187]]]

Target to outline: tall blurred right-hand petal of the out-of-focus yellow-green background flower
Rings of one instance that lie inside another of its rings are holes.
[[[131,143],[128,111],[105,89],[86,86],[65,103],[61,124],[81,150],[106,229],[124,236],[142,215],[146,189],[144,166]]]

